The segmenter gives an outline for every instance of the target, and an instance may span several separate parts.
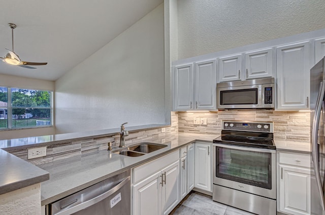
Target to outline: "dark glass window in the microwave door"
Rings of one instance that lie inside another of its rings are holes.
[[[220,91],[221,105],[256,105],[257,88]]]

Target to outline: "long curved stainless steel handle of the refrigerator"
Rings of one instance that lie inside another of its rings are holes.
[[[322,209],[324,210],[324,193],[323,193],[323,187],[321,184],[320,179],[320,173],[319,173],[319,155],[317,152],[317,139],[318,139],[318,126],[319,126],[319,118],[320,118],[320,111],[324,99],[324,92],[325,92],[325,83],[324,81],[320,82],[320,88],[319,93],[317,97],[316,107],[315,107],[315,114],[313,119],[313,126],[312,126],[312,134],[311,134],[311,142],[312,142],[312,158],[314,163],[314,169],[315,169],[315,177],[316,177],[316,184],[318,188],[318,194],[320,198],[320,204]]]

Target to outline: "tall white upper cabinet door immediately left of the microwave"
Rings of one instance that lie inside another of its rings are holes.
[[[216,60],[195,63],[195,109],[216,109]]]

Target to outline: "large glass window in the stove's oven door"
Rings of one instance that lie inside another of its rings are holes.
[[[216,177],[272,189],[271,153],[216,147]]]

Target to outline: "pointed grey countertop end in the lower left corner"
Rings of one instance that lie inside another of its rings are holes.
[[[49,179],[49,173],[15,155],[0,149],[0,194],[38,184]]]

